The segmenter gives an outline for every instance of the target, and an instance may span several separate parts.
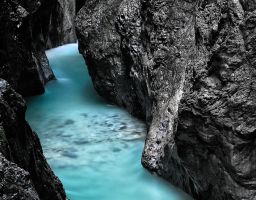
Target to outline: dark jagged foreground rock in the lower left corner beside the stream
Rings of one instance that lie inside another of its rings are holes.
[[[65,200],[63,186],[47,164],[25,111],[23,98],[0,79],[0,197]]]

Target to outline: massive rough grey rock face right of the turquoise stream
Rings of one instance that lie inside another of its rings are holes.
[[[256,199],[256,1],[88,0],[95,89],[146,120],[143,165],[196,199]]]

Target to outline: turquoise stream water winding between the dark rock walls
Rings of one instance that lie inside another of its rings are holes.
[[[57,77],[27,120],[71,200],[188,200],[141,166],[145,126],[93,89],[77,44],[47,51]]]

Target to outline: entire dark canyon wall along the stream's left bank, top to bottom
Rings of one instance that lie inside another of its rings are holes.
[[[41,94],[55,78],[45,50],[76,42],[75,13],[70,0],[0,1],[0,199],[66,199],[20,94]]]

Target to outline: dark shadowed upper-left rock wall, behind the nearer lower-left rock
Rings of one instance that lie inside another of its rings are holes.
[[[44,92],[53,79],[45,50],[75,42],[75,1],[0,2],[0,78],[22,95]]]

